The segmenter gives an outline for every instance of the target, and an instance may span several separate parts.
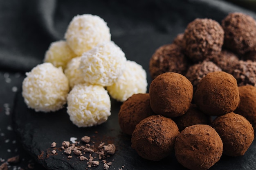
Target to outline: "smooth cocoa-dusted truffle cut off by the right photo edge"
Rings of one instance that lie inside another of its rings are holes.
[[[240,103],[234,113],[244,116],[253,128],[256,128],[256,87],[244,85],[238,87]]]

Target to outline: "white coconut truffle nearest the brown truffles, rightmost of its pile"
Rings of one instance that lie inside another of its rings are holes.
[[[135,61],[128,60],[124,73],[107,90],[112,98],[124,102],[133,94],[146,93],[147,86],[146,71]]]

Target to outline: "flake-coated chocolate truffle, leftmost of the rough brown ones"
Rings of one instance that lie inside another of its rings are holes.
[[[152,79],[165,72],[185,74],[189,60],[176,44],[166,44],[159,47],[149,62],[149,72]]]

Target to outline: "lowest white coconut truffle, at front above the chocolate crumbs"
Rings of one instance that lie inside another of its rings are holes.
[[[78,84],[67,96],[67,113],[78,127],[101,124],[110,116],[110,96],[104,87]]]

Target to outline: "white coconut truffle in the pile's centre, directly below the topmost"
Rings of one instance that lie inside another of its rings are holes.
[[[110,86],[123,74],[125,65],[124,52],[113,41],[108,41],[83,53],[79,68],[85,82]]]

